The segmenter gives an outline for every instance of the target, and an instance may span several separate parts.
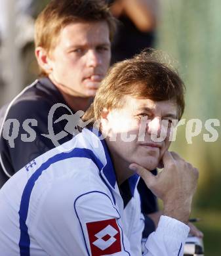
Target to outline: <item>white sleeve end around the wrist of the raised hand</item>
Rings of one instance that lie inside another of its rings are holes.
[[[172,219],[171,217],[161,216],[155,232],[151,233],[146,241],[146,256],[182,256],[184,254],[184,244],[189,226]]]

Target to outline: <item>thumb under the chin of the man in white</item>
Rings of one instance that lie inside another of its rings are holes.
[[[152,186],[157,179],[156,176],[153,175],[148,169],[145,169],[144,167],[136,163],[131,163],[131,165],[129,165],[129,168],[132,171],[136,171],[136,173],[140,175],[140,177],[142,177],[148,187]]]

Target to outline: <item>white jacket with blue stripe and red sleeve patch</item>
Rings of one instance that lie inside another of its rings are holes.
[[[1,255],[142,255],[137,182],[137,175],[129,179],[132,198],[124,207],[106,143],[83,129],[1,188]],[[183,255],[188,232],[161,217],[144,255]]]

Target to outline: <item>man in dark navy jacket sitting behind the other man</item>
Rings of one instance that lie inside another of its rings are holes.
[[[60,103],[51,117],[56,140],[61,144],[73,137],[73,131],[64,133],[65,119],[55,121],[89,107],[110,65],[114,31],[115,20],[102,0],[52,0],[39,14],[35,56],[41,74],[1,114],[0,187],[54,148],[55,139],[44,136],[54,104]]]

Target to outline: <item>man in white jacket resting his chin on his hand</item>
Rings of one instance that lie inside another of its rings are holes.
[[[167,64],[142,53],[113,66],[83,117],[88,128],[1,188],[1,253],[142,255],[140,175],[164,203],[145,255],[182,255],[199,175],[168,151],[183,111],[184,84]]]

